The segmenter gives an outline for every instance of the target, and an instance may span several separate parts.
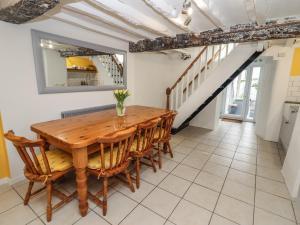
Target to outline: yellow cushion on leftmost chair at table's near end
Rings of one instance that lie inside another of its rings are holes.
[[[53,149],[45,152],[51,172],[58,172],[70,169],[73,166],[72,156],[59,150]],[[37,155],[43,173],[47,173],[42,154]]]

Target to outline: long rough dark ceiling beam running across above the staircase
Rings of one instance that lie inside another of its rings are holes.
[[[300,20],[282,23],[269,22],[264,25],[238,24],[224,31],[217,28],[200,34],[183,33],[177,34],[176,37],[159,37],[155,40],[144,39],[137,43],[130,42],[129,51],[162,51],[226,43],[287,39],[298,36],[300,36]]]

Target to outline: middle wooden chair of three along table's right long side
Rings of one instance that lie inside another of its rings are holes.
[[[135,160],[135,181],[137,188],[140,187],[141,163],[151,166],[153,171],[156,172],[153,158],[153,138],[159,121],[160,119],[155,119],[138,125],[136,138],[130,150],[130,155]],[[149,160],[150,164],[141,161],[142,158]]]

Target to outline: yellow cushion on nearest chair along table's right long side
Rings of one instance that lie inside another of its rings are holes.
[[[117,161],[117,148],[115,148],[113,150],[113,161],[112,161],[112,167],[116,165],[116,161]],[[121,157],[122,151],[120,152],[119,155],[119,160]],[[89,156],[89,161],[88,161],[88,168],[90,169],[101,169],[101,158],[100,158],[100,153],[99,152],[95,152],[94,154],[92,154],[91,156]],[[109,169],[110,168],[110,151],[106,150],[104,153],[104,168],[105,169]]]

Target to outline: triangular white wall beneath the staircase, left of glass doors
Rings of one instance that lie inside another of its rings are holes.
[[[219,124],[222,94],[218,95],[203,111],[192,119],[190,126],[215,130]]]

